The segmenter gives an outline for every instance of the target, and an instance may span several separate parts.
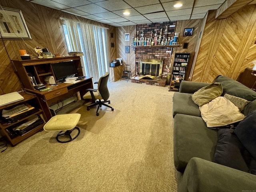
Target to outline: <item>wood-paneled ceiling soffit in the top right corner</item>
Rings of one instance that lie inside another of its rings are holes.
[[[253,0],[229,0],[225,1],[216,12],[216,19],[224,19],[232,15],[234,12],[238,11],[240,8],[243,8]]]

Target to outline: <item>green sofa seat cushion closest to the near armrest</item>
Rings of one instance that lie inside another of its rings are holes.
[[[218,131],[208,129],[201,117],[176,114],[174,117],[174,165],[184,172],[192,157],[214,160]]]

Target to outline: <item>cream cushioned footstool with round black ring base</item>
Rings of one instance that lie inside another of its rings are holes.
[[[56,140],[60,143],[66,143],[74,140],[80,134],[80,129],[76,127],[80,120],[81,114],[61,114],[50,118],[50,120],[44,125],[46,131],[60,131],[56,136]],[[78,133],[72,138],[71,133],[73,130],[77,130]],[[66,131],[62,133],[63,131]],[[68,136],[68,137],[67,137]],[[68,138],[68,140],[67,140]]]

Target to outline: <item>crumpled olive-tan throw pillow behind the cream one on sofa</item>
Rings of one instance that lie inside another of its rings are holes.
[[[194,92],[194,94],[192,94],[192,100],[198,106],[202,106],[220,96],[222,92],[222,85],[220,83],[214,82],[208,86],[200,88],[197,92]]]

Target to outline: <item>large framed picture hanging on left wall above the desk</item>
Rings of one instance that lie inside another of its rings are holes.
[[[31,39],[21,10],[5,7],[0,10],[0,36],[9,39]]]

